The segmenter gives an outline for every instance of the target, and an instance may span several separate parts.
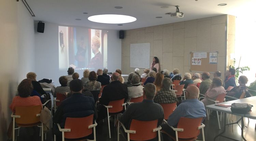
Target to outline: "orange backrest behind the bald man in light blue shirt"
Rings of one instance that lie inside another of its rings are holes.
[[[181,117],[177,128],[183,128],[184,130],[178,132],[178,137],[182,139],[197,137],[200,134],[198,127],[201,125],[202,119],[202,117],[194,119]]]

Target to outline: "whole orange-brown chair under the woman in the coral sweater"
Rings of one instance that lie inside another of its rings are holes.
[[[16,106],[15,114],[12,113],[11,117],[13,118],[13,141],[15,140],[15,129],[20,127],[40,127],[40,136],[42,136],[42,141],[44,140],[43,136],[43,123],[40,122],[41,115],[41,105],[37,106]],[[15,121],[16,119],[16,121]],[[18,126],[15,128],[15,123]],[[41,126],[39,126],[41,124]]]

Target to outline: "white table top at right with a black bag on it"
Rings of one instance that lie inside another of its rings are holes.
[[[227,101],[227,102],[222,102],[218,104],[232,104],[232,103],[248,103],[251,105],[254,105],[255,107],[252,107],[252,112],[249,114],[237,114],[237,113],[232,113],[230,108],[231,107],[221,107],[221,106],[216,106],[215,104],[212,105],[207,105],[205,108],[211,109],[211,110],[217,110],[219,112],[224,112],[228,114],[233,114],[241,117],[246,117],[246,118],[251,118],[251,119],[256,119],[256,96],[254,97],[248,97],[248,98],[243,98],[243,99],[237,99],[237,100],[232,100],[232,101]]]

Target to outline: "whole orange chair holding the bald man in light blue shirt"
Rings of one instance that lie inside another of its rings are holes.
[[[202,136],[204,141],[203,127],[205,127],[205,125],[202,124],[202,119],[202,117],[195,119],[181,117],[177,125],[177,128],[170,126],[175,131],[176,137],[171,136],[170,134],[166,133],[163,130],[161,130],[161,132],[170,136],[175,141],[194,141],[200,134],[200,129],[202,129]]]

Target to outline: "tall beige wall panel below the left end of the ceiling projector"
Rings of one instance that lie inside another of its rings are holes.
[[[173,26],[163,27],[163,52],[172,52]]]

